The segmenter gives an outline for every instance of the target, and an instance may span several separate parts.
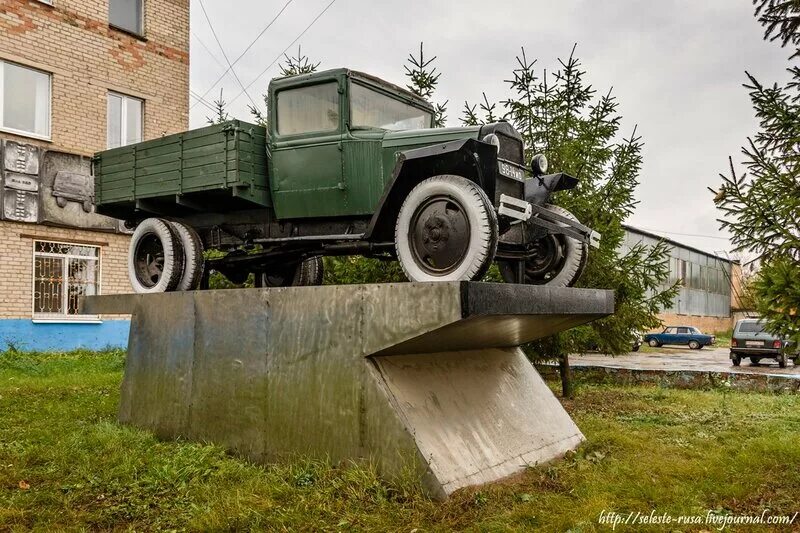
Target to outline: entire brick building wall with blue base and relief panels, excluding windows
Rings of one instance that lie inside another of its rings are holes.
[[[37,238],[99,245],[100,292],[132,290],[129,236],[91,205],[87,156],[107,147],[108,93],[144,101],[144,139],[188,128],[189,0],[144,0],[143,36],[108,21],[108,0],[0,0],[0,60],[51,81],[49,139],[0,129],[0,351],[127,344],[125,317],[33,313]],[[81,198],[65,198],[57,182],[78,185]]]

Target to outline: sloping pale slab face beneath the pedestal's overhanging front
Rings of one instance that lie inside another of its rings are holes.
[[[518,348],[375,360],[446,494],[549,461],[583,441]]]

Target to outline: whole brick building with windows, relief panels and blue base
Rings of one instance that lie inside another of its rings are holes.
[[[76,314],[130,292],[93,153],[188,127],[189,0],[0,0],[0,350],[121,344]]]

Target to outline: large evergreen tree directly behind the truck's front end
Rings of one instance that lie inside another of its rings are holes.
[[[558,357],[562,380],[570,395],[568,354],[597,346],[602,352],[620,354],[630,350],[632,333],[658,327],[658,313],[677,294],[669,277],[669,247],[636,245],[622,252],[623,222],[637,204],[642,140],[634,127],[620,138],[622,117],[611,91],[598,96],[585,81],[586,72],[575,56],[575,48],[559,67],[541,77],[536,61],[525,50],[516,58],[516,68],[506,81],[509,97],[500,102],[502,115],[520,132],[527,160],[544,153],[553,169],[578,178],[578,186],[557,193],[553,202],[602,234],[599,249],[591,249],[580,287],[614,289],[615,313],[565,333],[532,343],[526,350],[536,359]],[[497,116],[495,105],[486,100],[465,104],[466,124],[488,122]],[[483,115],[483,118],[480,115]]]

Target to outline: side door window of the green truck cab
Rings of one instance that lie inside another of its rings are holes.
[[[339,84],[335,81],[280,91],[277,99],[280,135],[339,129]]]

